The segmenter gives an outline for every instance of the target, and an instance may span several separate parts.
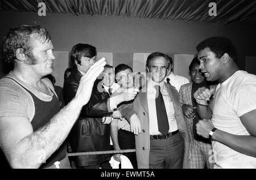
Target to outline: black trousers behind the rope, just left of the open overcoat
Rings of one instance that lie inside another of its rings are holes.
[[[121,149],[135,149],[135,136],[132,132],[120,129],[118,130],[118,143]],[[123,155],[129,158],[134,169],[138,168],[135,152],[124,153]]]

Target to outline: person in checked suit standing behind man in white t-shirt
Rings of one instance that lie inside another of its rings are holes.
[[[199,115],[196,112],[196,100],[193,94],[200,87],[216,89],[216,85],[209,85],[205,77],[201,74],[200,61],[193,58],[189,65],[189,72],[192,83],[184,84],[180,87],[180,104],[185,115],[185,122],[189,134],[189,168],[191,169],[212,169],[214,166],[213,150],[210,139],[205,139],[196,133],[196,123]]]

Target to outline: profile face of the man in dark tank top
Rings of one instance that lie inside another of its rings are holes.
[[[32,55],[27,57],[26,63],[30,64],[32,70],[40,76],[51,74],[53,71],[52,63],[55,59],[52,53],[53,45],[51,40],[44,41],[43,38],[36,39],[32,37],[32,47]],[[31,62],[33,62],[32,65]]]

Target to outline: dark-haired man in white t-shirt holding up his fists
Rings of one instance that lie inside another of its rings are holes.
[[[219,82],[211,109],[207,99],[213,89],[194,94],[204,119],[196,125],[197,134],[212,139],[214,168],[256,168],[256,76],[238,68],[236,49],[227,38],[208,38],[197,51],[206,79]]]

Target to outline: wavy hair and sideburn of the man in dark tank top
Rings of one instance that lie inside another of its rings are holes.
[[[51,40],[46,28],[40,25],[21,25],[18,28],[11,28],[9,33],[3,37],[3,55],[7,63],[14,63],[17,49],[22,49],[27,57],[34,57],[31,35],[35,35],[36,39],[43,38],[43,42]]]

